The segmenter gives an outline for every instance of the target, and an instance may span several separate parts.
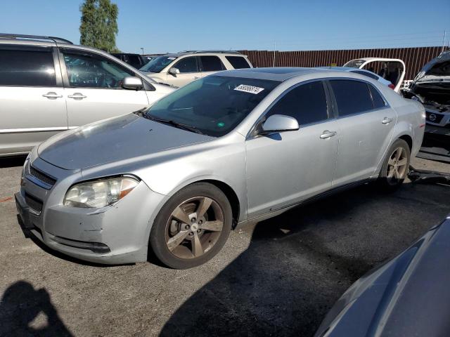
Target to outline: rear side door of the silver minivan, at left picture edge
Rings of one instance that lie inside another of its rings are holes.
[[[0,154],[28,152],[68,129],[57,61],[50,46],[0,45]]]

